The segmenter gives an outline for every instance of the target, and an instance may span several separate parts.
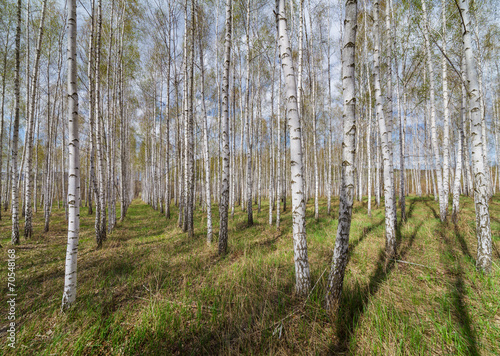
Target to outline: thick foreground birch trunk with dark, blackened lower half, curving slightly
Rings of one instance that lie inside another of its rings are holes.
[[[339,225],[333,251],[332,269],[328,277],[326,308],[336,311],[342,293],[347,266],[349,231],[354,200],[354,160],[356,155],[356,78],[355,53],[357,0],[345,2],[344,37],[342,45],[342,96],[344,101],[344,137],[342,143],[342,175]]]

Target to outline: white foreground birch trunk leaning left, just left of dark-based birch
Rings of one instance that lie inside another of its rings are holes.
[[[309,260],[306,240],[306,202],[303,192],[301,127],[297,107],[297,85],[292,64],[292,49],[288,39],[285,1],[277,0],[276,21],[281,66],[286,86],[286,111],[290,130],[290,170],[292,188],[293,251],[295,260],[295,292],[305,295],[310,288]]]

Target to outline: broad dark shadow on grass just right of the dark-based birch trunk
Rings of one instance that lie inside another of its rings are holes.
[[[408,236],[408,243],[398,253],[398,258],[403,259],[411,249],[418,231],[423,225],[423,221],[418,224]],[[381,249],[376,262],[376,269],[370,276],[366,285],[356,283],[349,289],[344,286],[341,304],[336,318],[336,338],[330,344],[330,352],[333,354],[350,354],[355,350],[351,349],[351,339],[356,326],[366,312],[369,300],[378,292],[380,286],[385,282],[391,271],[395,267],[395,261],[386,261],[385,250]]]

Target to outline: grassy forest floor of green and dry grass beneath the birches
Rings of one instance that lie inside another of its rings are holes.
[[[288,202],[289,203],[289,202]],[[76,305],[61,313],[66,252],[64,211],[55,207],[49,233],[43,212],[34,237],[17,254],[17,341],[7,346],[7,249],[10,216],[0,221],[2,322],[0,354],[199,355],[359,354],[498,355],[500,353],[500,196],[490,202],[494,265],[475,269],[474,205],[461,198],[458,224],[442,224],[431,197],[408,197],[408,221],[398,227],[399,261],[384,269],[384,210],[366,214],[356,202],[340,311],[322,303],[337,220],[321,201],[307,209],[314,289],[294,296],[290,206],[281,230],[268,225],[268,205],[247,227],[236,207],[229,249],[206,244],[206,215],[195,212],[195,237],[135,200],[100,250],[94,216],[81,210]],[[337,212],[338,200],[333,202]],[[214,204],[214,231],[218,208]],[[22,224],[21,224],[22,227]],[[22,232],[22,231],[21,231]],[[217,234],[214,234],[216,240]]]

